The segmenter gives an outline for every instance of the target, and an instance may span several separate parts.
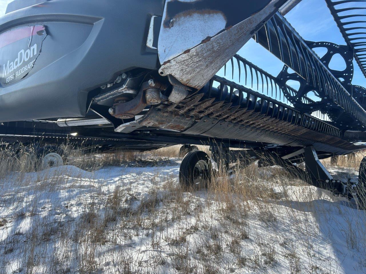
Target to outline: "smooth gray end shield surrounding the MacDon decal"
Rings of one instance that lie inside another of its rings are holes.
[[[48,34],[30,73],[0,85],[0,121],[82,117],[91,90],[132,68],[157,69],[146,41],[163,8],[164,0],[53,0],[0,17],[0,33],[44,24]]]

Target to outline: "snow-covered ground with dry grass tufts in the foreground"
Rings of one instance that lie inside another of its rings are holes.
[[[185,192],[171,164],[12,173],[0,274],[366,273],[365,212],[342,199],[275,168]]]

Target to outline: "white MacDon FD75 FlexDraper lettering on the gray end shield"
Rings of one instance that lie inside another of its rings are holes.
[[[37,44],[34,44],[33,46],[31,46],[30,49],[20,50],[20,52],[18,52],[18,57],[15,58],[14,61],[10,62],[10,60],[8,60],[7,64],[3,65],[3,78],[6,77],[6,83],[13,80],[14,77],[18,77],[18,76],[22,75],[23,73],[25,73],[28,69],[32,68],[33,62],[35,60],[32,60],[29,63],[25,63],[25,62],[27,62],[28,60],[33,58],[33,56],[37,56],[37,53],[38,53]],[[23,65],[23,63],[25,63],[25,65]],[[12,73],[13,71],[15,71],[18,68],[20,68],[20,69],[17,70],[12,75],[10,75],[9,77],[7,77],[10,73]]]

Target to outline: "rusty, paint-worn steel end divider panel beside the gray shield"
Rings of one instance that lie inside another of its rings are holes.
[[[285,2],[167,0],[158,42],[160,74],[201,88]]]

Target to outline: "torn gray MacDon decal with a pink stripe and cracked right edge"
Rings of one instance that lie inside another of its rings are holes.
[[[0,34],[0,83],[23,79],[33,68],[46,38],[45,26],[19,27]]]

